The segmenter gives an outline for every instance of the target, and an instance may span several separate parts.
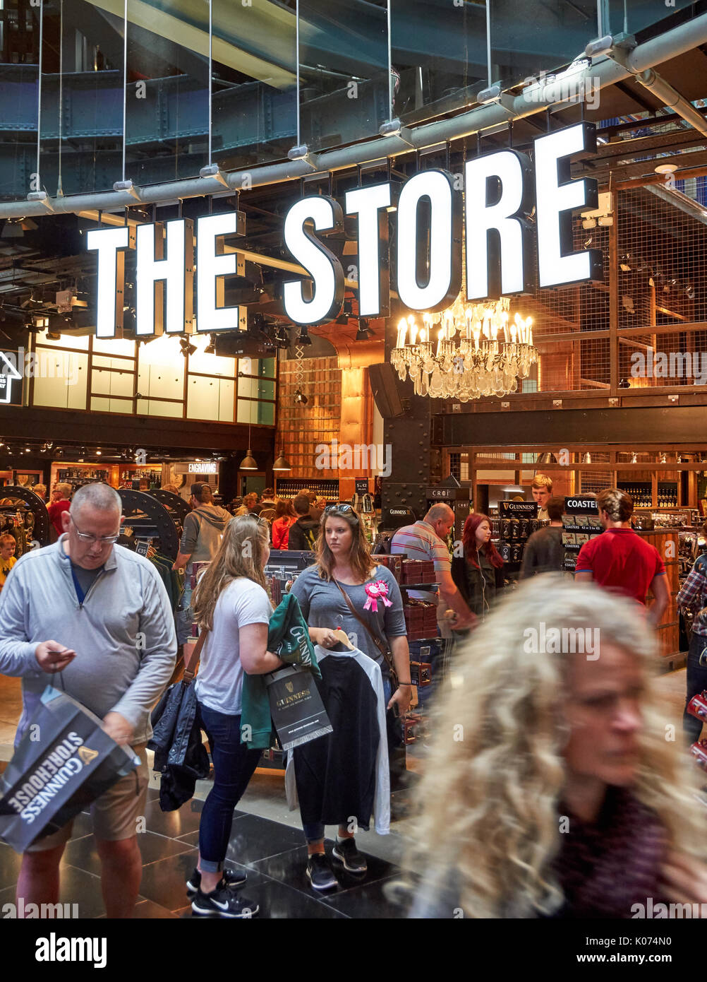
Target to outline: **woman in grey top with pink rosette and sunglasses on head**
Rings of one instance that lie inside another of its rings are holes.
[[[366,627],[351,613],[342,590]],[[360,651],[379,663],[387,707],[407,712],[412,685],[400,588],[392,573],[378,566],[371,556],[361,521],[350,505],[326,509],[317,540],[317,562],[300,573],[291,592],[299,601],[312,642],[336,648],[340,641],[334,631],[342,628]],[[392,655],[399,681],[392,693],[390,673],[374,637],[389,647]],[[304,832],[309,853],[307,875],[316,890],[328,890],[336,886],[336,880],[325,854],[324,827],[305,827]],[[366,859],[345,825],[339,826],[334,855],[347,870],[365,872]]]

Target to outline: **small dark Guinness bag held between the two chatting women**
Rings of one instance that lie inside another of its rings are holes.
[[[309,669],[289,666],[266,676],[270,714],[283,750],[333,732]]]

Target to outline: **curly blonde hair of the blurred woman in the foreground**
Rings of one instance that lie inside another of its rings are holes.
[[[456,880],[465,916],[534,917],[564,900],[553,861],[561,846],[569,659],[531,650],[527,630],[540,622],[598,627],[603,644],[635,657],[645,694],[631,791],[657,813],[671,846],[707,854],[707,821],[694,797],[699,772],[681,736],[670,741],[664,700],[651,682],[659,664],[655,634],[621,597],[557,574],[535,576],[457,652],[432,714],[422,813],[405,865],[423,872],[432,903],[450,876]]]

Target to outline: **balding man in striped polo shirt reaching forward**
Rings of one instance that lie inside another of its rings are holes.
[[[419,600],[437,600],[437,620],[451,608],[457,615],[456,630],[474,627],[477,618],[470,611],[452,579],[452,564],[447,549],[447,536],[454,525],[454,512],[449,505],[432,505],[428,514],[412,525],[398,528],[390,543],[391,555],[406,553],[408,559],[431,560],[434,578],[439,584],[439,597],[433,594],[411,591],[409,596]]]

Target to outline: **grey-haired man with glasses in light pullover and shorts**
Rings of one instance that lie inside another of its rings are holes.
[[[145,813],[150,710],[172,675],[177,650],[159,574],[142,556],[115,545],[121,513],[120,495],[107,484],[79,488],[62,516],[59,541],[26,553],[0,596],[0,673],[23,679],[16,741],[53,682],[140,758],[136,772],[91,805],[109,917],[129,917],[137,899],[142,860],[135,833]],[[59,900],[59,863],[71,834],[69,823],[29,846],[18,900]]]

